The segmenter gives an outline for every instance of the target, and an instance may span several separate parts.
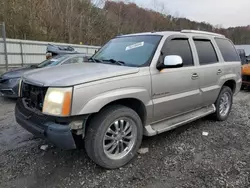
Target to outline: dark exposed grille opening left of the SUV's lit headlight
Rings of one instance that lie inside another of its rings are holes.
[[[35,108],[39,111],[42,111],[43,101],[47,89],[47,87],[22,83],[21,95],[29,108]]]

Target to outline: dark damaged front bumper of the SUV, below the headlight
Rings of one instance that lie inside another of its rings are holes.
[[[22,99],[18,99],[15,107],[15,117],[18,124],[33,135],[47,139],[58,148],[75,149],[76,144],[69,125],[56,123],[52,117],[47,117],[28,109]]]

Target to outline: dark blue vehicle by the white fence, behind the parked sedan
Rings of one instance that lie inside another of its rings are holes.
[[[47,50],[46,50],[46,59],[52,58],[57,55],[63,55],[63,54],[77,54],[77,52],[73,47],[71,46],[61,46],[61,45],[54,45],[54,44],[48,44]]]

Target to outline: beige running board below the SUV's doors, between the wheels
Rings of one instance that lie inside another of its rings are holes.
[[[152,125],[147,125],[144,128],[145,136],[154,136],[172,129],[175,129],[181,125],[190,123],[202,117],[205,117],[209,114],[212,114],[216,111],[214,104],[200,108],[198,110],[182,114],[179,116],[175,116],[173,118],[169,118],[160,122],[156,122]]]

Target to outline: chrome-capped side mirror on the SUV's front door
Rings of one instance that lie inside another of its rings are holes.
[[[164,58],[163,63],[160,63],[157,68],[178,68],[183,66],[183,60],[181,56],[178,55],[168,55]]]

